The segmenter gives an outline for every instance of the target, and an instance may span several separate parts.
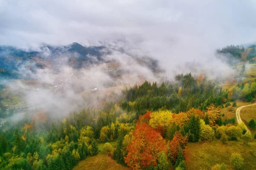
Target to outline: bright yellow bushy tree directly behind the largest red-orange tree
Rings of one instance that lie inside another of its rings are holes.
[[[172,112],[170,110],[159,110],[152,112],[150,115],[149,125],[156,129],[157,127],[169,127],[172,120]]]

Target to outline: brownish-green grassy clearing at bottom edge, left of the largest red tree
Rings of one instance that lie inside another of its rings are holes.
[[[116,142],[111,142],[111,145],[115,147]],[[73,170],[131,170],[129,167],[117,164],[116,160],[109,157],[107,153],[104,153],[103,146],[104,143],[99,143],[100,153],[96,156],[89,156],[80,161]]]

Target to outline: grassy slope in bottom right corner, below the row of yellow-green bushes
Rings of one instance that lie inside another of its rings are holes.
[[[232,153],[240,153],[244,158],[242,170],[256,169],[256,141],[244,144],[244,141],[227,141],[222,144],[220,140],[212,142],[197,142],[188,144],[189,159],[187,170],[210,170],[215,164],[224,163],[230,167],[230,156]]]

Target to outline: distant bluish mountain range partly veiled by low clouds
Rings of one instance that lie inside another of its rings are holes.
[[[107,55],[114,51],[125,53],[138,64],[148,67],[152,72],[162,71],[158,67],[157,60],[153,58],[134,56],[124,52],[124,50],[111,49],[105,46],[85,47],[79,43],[72,43],[67,46],[41,46],[36,51],[0,46],[0,78],[21,78],[18,74],[21,67],[29,68],[33,72],[38,68],[58,70],[63,65],[71,66],[73,69],[81,69],[90,67],[92,64],[110,63],[115,60],[109,59]],[[125,72],[122,68],[115,71],[114,75]]]

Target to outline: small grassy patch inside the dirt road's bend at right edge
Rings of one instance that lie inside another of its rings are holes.
[[[254,119],[256,121],[256,106],[248,106],[248,107],[245,107],[244,109],[241,109],[240,116],[242,121],[246,125],[251,119]],[[256,129],[252,129],[250,127],[248,128],[253,134],[256,133]]]

